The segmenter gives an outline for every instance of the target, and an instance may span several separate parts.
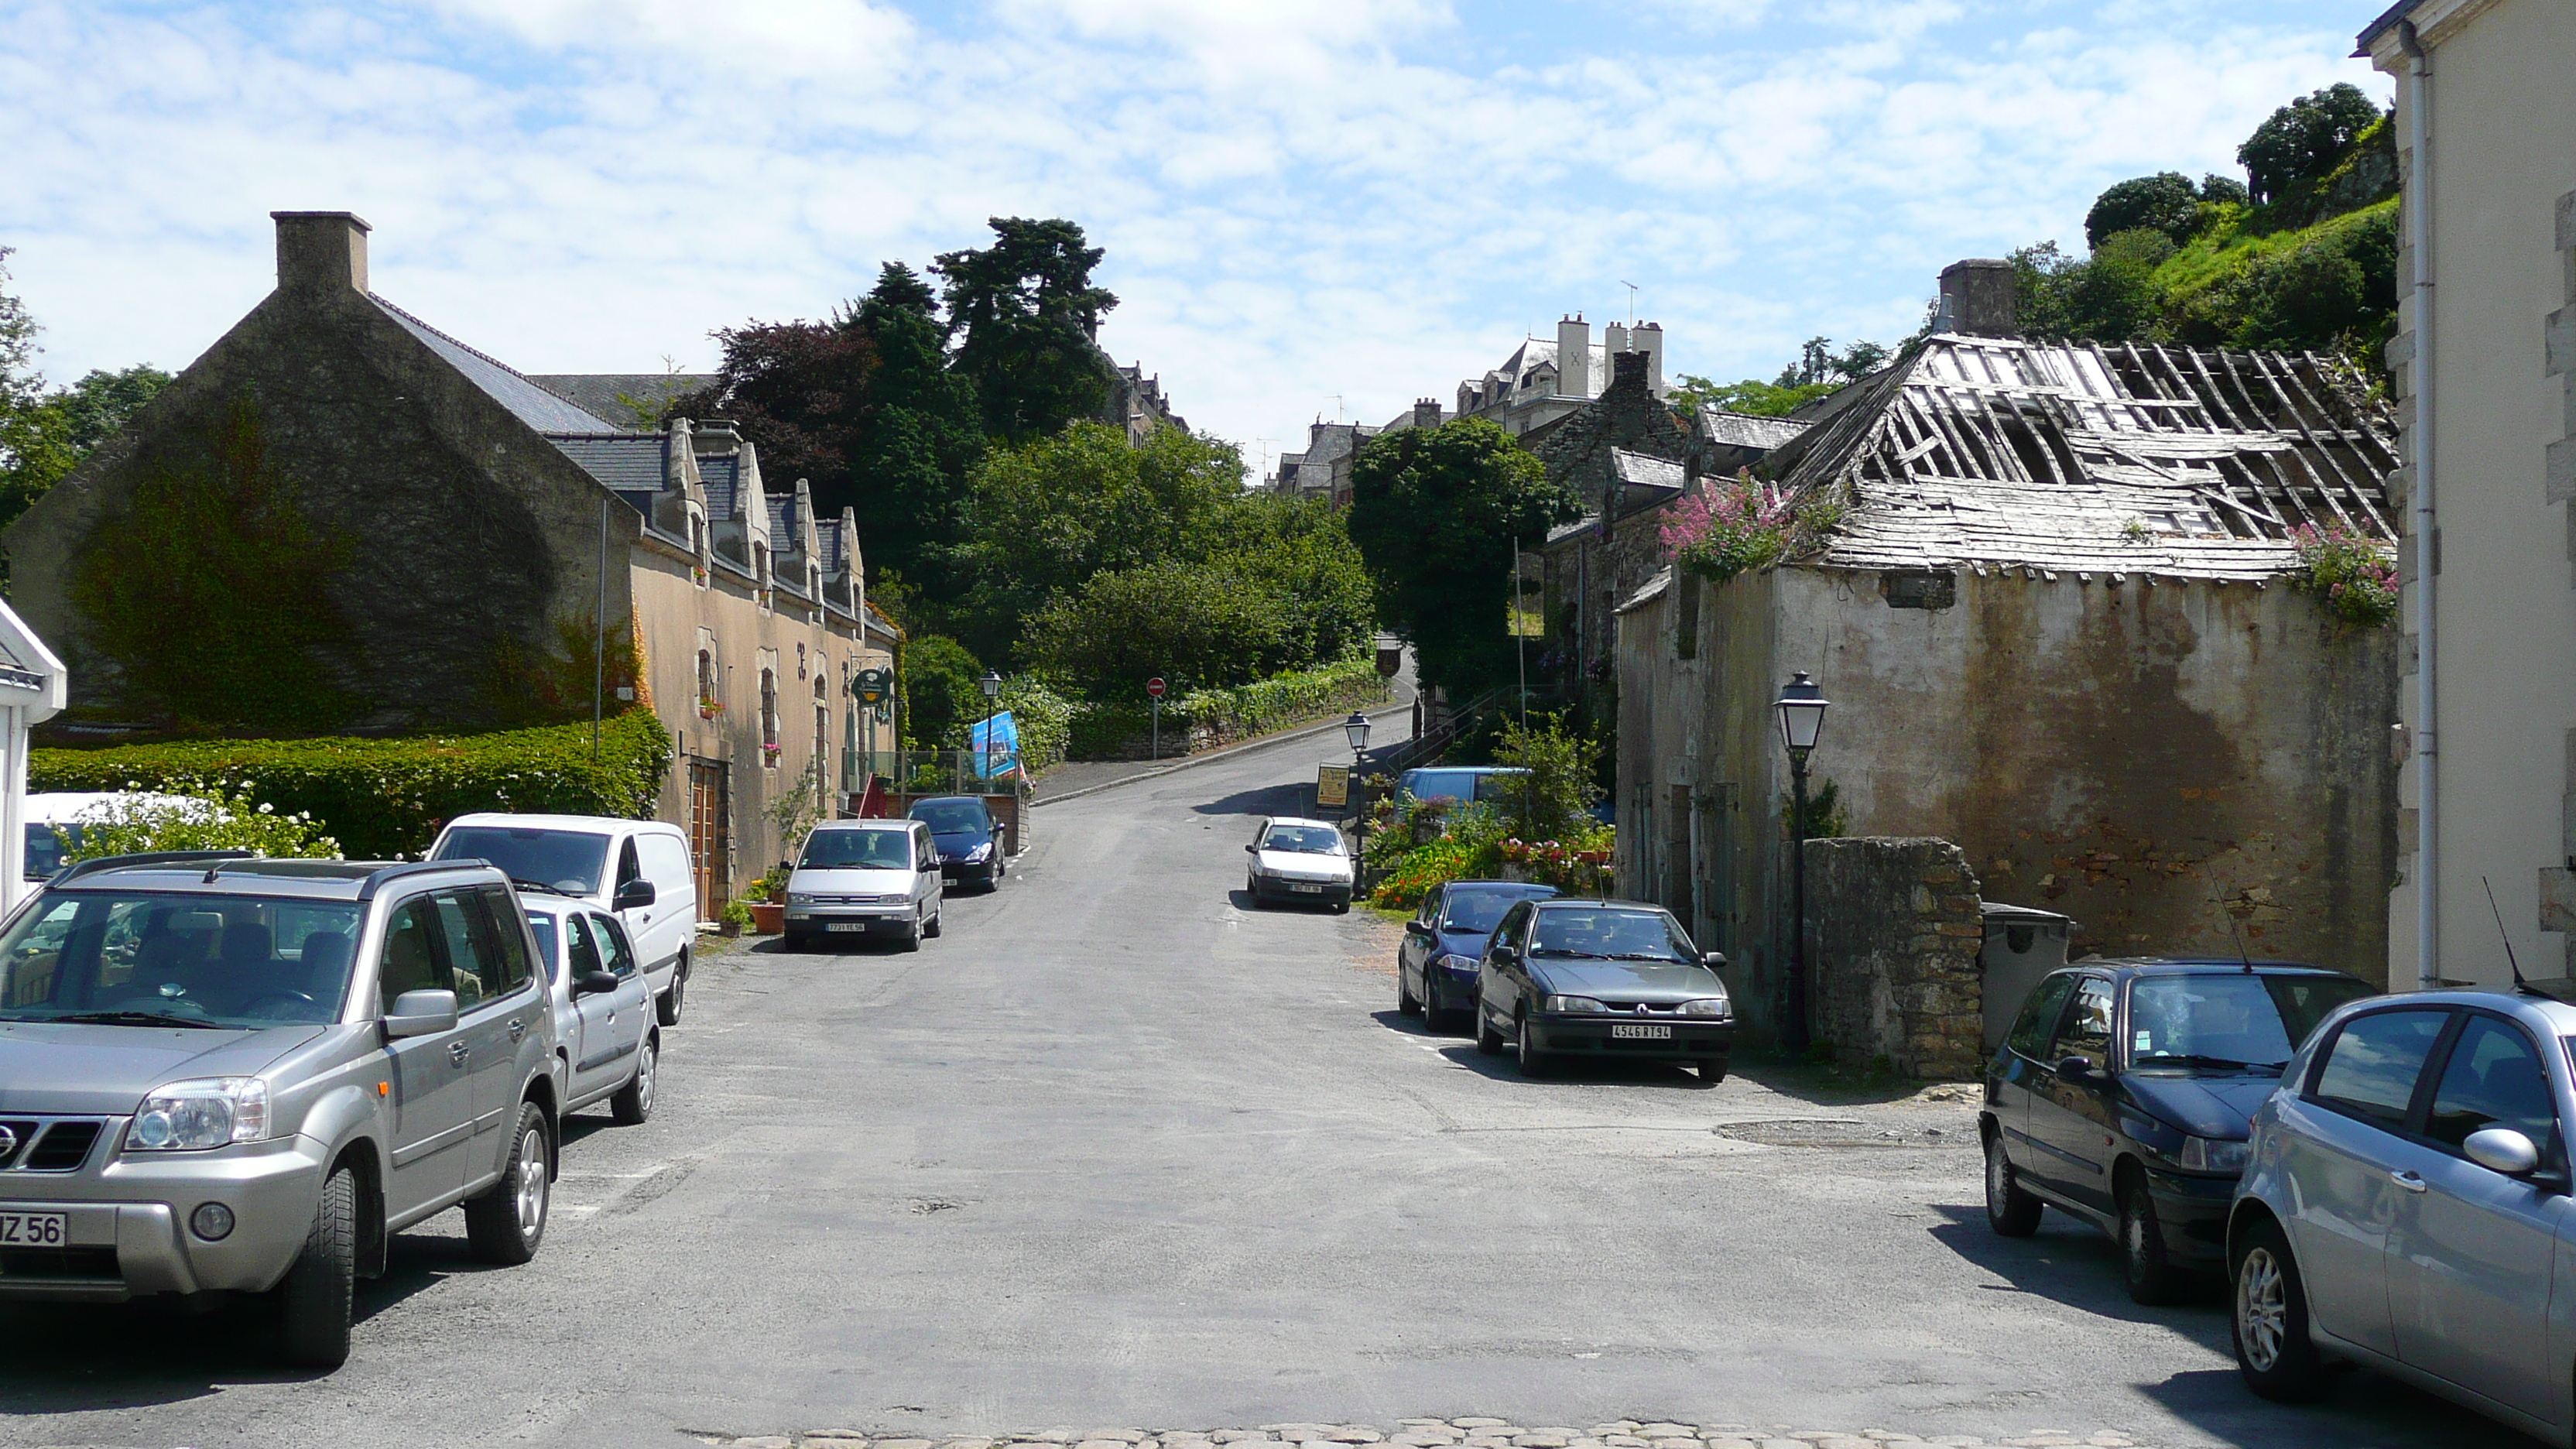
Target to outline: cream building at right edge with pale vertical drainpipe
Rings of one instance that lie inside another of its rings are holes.
[[[2406,237],[2388,977],[2506,982],[2506,946],[2558,977],[2576,972],[2576,8],[2406,0],[2360,54],[2396,80]]]

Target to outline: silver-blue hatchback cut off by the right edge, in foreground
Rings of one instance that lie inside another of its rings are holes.
[[[2488,990],[2380,995],[2316,1029],[2254,1114],[2228,1214],[2254,1392],[2367,1364],[2568,1444],[2571,1042],[2576,1008]]]

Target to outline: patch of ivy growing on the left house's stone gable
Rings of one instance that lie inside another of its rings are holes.
[[[245,392],[193,456],[144,472],[98,521],[70,596],[129,706],[183,730],[314,732],[371,704],[335,668],[355,637],[330,583],[353,559],[304,518]]]

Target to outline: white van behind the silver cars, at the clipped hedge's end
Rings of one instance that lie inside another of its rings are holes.
[[[616,913],[644,959],[662,1026],[680,1024],[688,957],[698,946],[698,871],[688,835],[613,815],[459,815],[433,861],[492,861],[510,879]]]

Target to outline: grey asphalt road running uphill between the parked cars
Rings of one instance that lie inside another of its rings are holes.
[[[654,1122],[574,1122],[538,1261],[471,1263],[456,1214],[402,1235],[337,1374],[273,1372],[247,1310],[0,1312],[0,1441],[1486,1413],[2517,1444],[2365,1374],[2251,1400],[2215,1297],[2141,1310],[2089,1232],[1986,1230],[1965,1104],[1525,1083],[1422,1036],[1383,923],[1239,897],[1252,817],[1340,758],[1291,740],[1046,807],[917,954],[706,964]]]

